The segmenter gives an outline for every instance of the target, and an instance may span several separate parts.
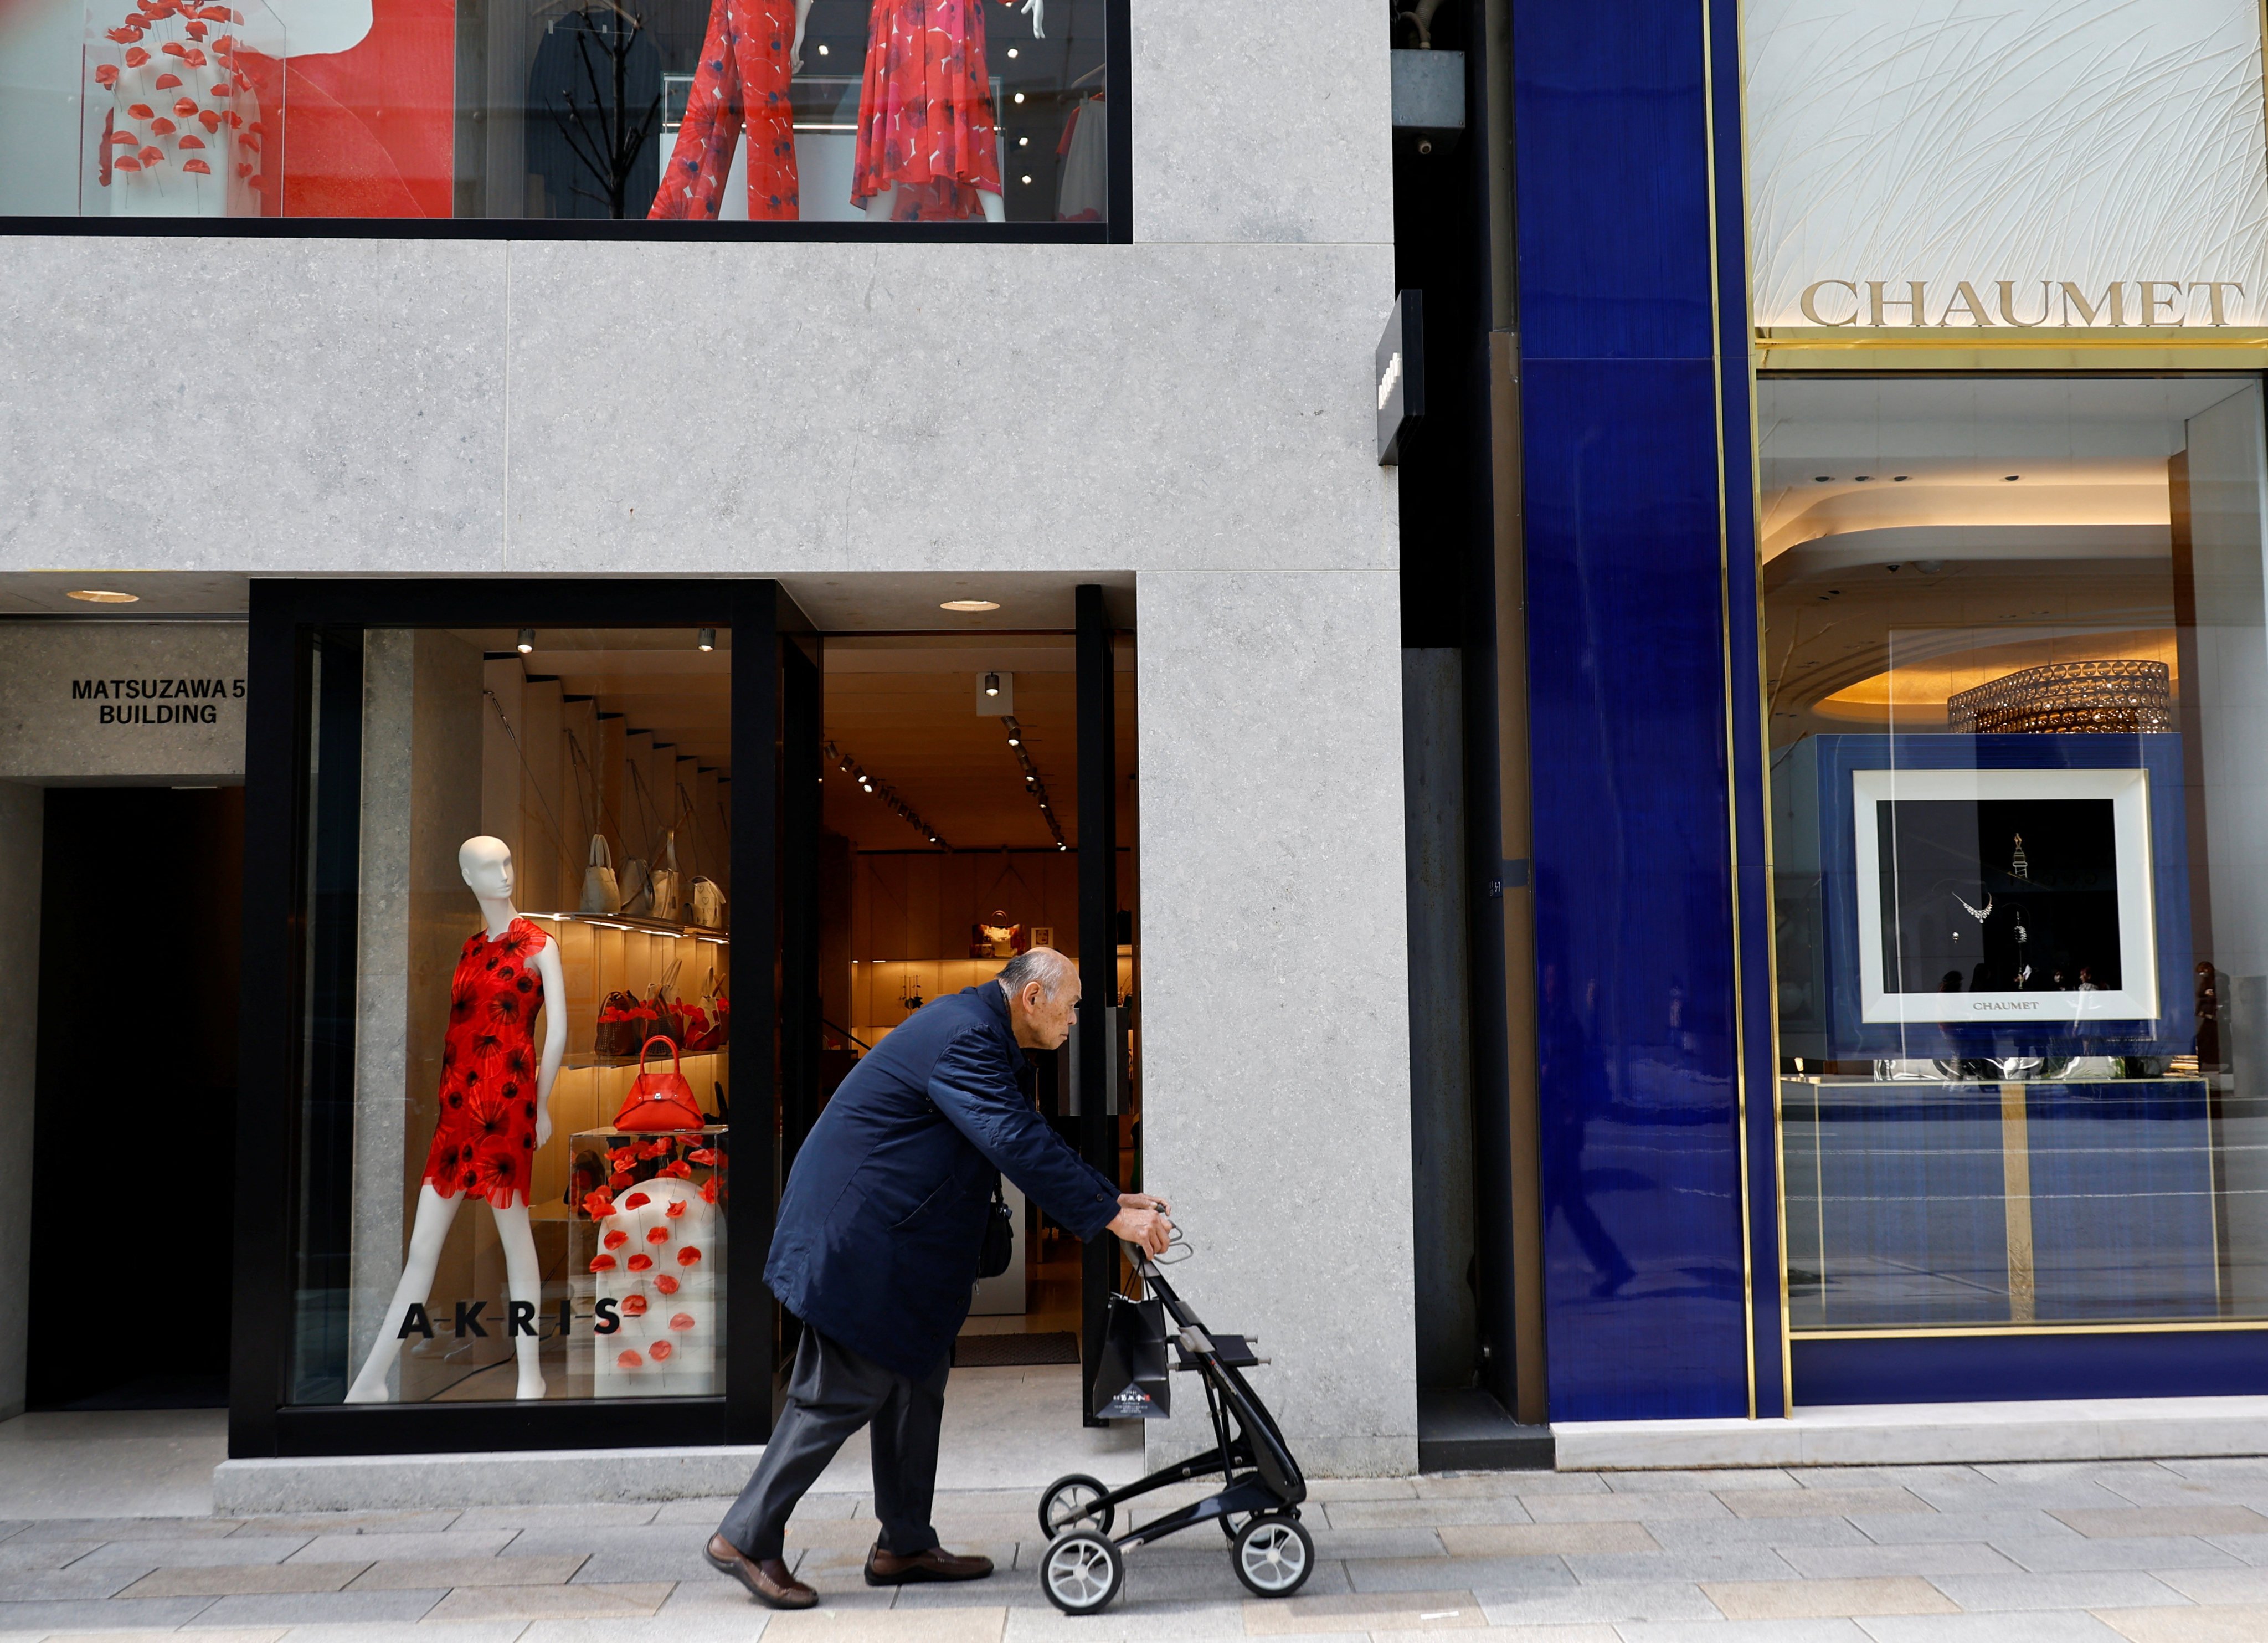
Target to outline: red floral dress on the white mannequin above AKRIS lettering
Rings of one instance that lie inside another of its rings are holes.
[[[535,955],[551,940],[526,919],[503,935],[465,942],[449,983],[449,1037],[440,1051],[440,1128],[426,1185],[442,1198],[469,1191],[497,1210],[528,1200],[535,1171],[535,1012],[544,980]]]

